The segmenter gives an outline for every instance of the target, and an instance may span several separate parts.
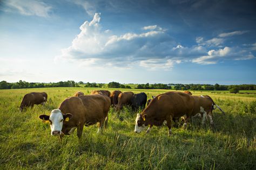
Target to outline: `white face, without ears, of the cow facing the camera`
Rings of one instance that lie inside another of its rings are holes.
[[[51,135],[60,135],[62,133],[62,126],[64,121],[62,112],[59,109],[52,110],[49,121],[51,126]]]

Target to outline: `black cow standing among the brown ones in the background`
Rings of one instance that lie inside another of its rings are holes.
[[[147,102],[147,95],[144,92],[139,94],[134,94],[130,102],[133,110],[136,110],[140,107],[144,109]]]

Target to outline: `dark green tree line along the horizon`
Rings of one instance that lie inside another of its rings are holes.
[[[105,87],[104,83],[95,83],[82,81],[75,82],[72,80],[69,81],[60,81],[57,83],[35,83],[35,82],[26,82],[19,80],[15,83],[9,83],[6,81],[0,82],[0,89],[22,89],[22,88],[43,88],[43,87]],[[110,82],[107,84],[109,88],[126,88],[131,89],[130,86],[120,84],[118,82]],[[220,85],[220,84],[138,84],[137,89],[174,89],[174,90],[256,90],[256,84],[241,84],[241,85]]]

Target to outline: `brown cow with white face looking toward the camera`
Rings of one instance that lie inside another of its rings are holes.
[[[107,112],[110,108],[110,98],[106,95],[84,95],[66,98],[58,107],[51,111],[50,116],[41,115],[43,121],[50,121],[51,135],[60,136],[72,134],[77,128],[77,136],[81,138],[84,125],[98,124],[98,132],[107,124]]]

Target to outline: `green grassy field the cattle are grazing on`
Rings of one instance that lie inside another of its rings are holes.
[[[84,128],[81,140],[76,133],[62,143],[50,136],[50,125],[38,116],[49,115],[78,90],[89,94],[93,89],[0,90],[0,169],[256,169],[256,94],[192,91],[210,95],[226,115],[214,110],[213,128],[193,119],[186,130],[173,128],[171,137],[166,126],[134,133],[137,112],[129,108],[120,113],[123,121],[111,109],[103,134],[92,125]],[[144,91],[148,98],[168,91],[131,90]],[[48,103],[19,112],[23,96],[32,91],[48,93]]]

